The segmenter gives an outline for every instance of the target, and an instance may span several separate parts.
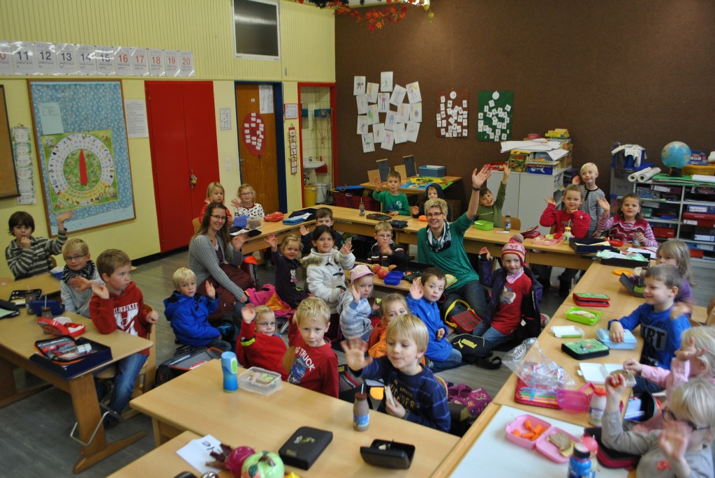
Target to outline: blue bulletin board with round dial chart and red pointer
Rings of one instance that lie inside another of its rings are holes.
[[[136,217],[120,81],[28,81],[47,227],[71,231]]]

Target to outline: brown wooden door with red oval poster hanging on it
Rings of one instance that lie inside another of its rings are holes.
[[[276,85],[272,85],[276,88]],[[273,95],[275,102],[275,94]],[[278,184],[278,158],[275,133],[275,112],[261,113],[260,98],[257,84],[236,85],[236,111],[238,121],[238,154],[241,167],[241,181],[253,186],[256,190],[255,201],[263,206],[263,211],[270,214],[280,210]],[[246,116],[260,114],[265,125],[265,139],[260,154],[252,154],[246,145],[243,126]],[[227,191],[228,197],[235,196],[237,191]]]

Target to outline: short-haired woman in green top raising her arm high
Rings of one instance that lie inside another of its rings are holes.
[[[491,176],[489,166],[472,172],[472,196],[467,211],[450,224],[444,199],[425,202],[427,226],[417,236],[418,261],[438,267],[457,278],[448,291],[448,302],[464,299],[479,317],[486,314],[484,289],[464,250],[464,233],[472,226],[479,206],[479,188]]]

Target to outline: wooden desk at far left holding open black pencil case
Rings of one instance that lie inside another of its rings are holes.
[[[82,337],[112,347],[113,362],[141,352],[153,345],[147,339],[134,337],[124,332],[114,331],[112,334],[100,334],[89,319],[72,312],[64,312],[63,315],[87,327],[87,331]],[[12,371],[12,365],[15,364],[71,395],[74,415],[79,423],[79,439],[87,443],[101,418],[92,372],[106,367],[107,364],[88,370],[73,379],[60,378],[29,360],[29,357],[35,352],[34,342],[47,337],[49,336],[44,334],[37,325],[35,316],[28,316],[25,311],[21,312],[18,317],[0,320],[0,407],[36,392],[35,389],[30,391],[16,389]],[[104,427],[99,427],[94,441],[82,448],[83,457],[74,465],[74,472],[79,473],[91,467],[128,444],[136,442],[145,434],[145,432],[138,432],[117,442],[107,443]]]

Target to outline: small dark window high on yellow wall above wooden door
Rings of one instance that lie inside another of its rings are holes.
[[[237,57],[280,59],[278,0],[233,0],[233,25]]]

